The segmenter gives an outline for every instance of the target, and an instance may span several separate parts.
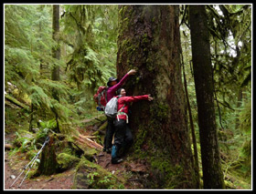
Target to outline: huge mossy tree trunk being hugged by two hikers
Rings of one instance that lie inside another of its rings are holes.
[[[151,188],[195,188],[181,80],[177,5],[120,5],[117,75],[131,68],[128,96],[151,94],[132,106],[133,156],[151,166]]]

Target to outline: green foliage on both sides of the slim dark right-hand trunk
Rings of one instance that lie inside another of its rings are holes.
[[[183,23],[180,35],[189,101],[199,139],[186,6],[181,7]],[[213,79],[218,100],[218,104],[215,100],[215,112],[220,157],[225,179],[229,183],[228,177],[238,179],[238,186],[240,180],[251,181],[251,5],[207,5],[207,11]],[[242,187],[250,188],[249,185]]]

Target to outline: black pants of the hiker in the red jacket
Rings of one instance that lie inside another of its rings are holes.
[[[115,135],[113,146],[116,148],[116,153],[112,156],[122,157],[133,144],[133,135],[131,129],[126,124],[126,120],[120,119],[114,121]]]

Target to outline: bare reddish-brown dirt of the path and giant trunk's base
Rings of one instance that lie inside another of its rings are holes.
[[[21,173],[20,168],[25,167],[29,161],[24,159],[23,155],[17,155],[15,158],[20,158],[18,160],[19,162],[14,163],[12,160],[16,159],[9,158],[7,155],[8,152],[5,152],[5,189],[72,189],[75,175],[74,168],[51,176],[40,176],[35,179],[25,179],[21,187],[18,187],[25,176],[25,173],[23,173],[21,177],[17,179],[13,187],[10,188],[17,176]],[[110,154],[106,154],[105,152],[99,154],[97,158],[99,158],[98,164],[101,165],[101,167],[108,169],[117,177],[130,173],[131,178],[129,179],[129,182],[124,185],[125,189],[144,189],[143,184],[141,184],[141,181],[144,181],[144,179],[140,179],[134,174],[132,175],[133,172],[145,172],[146,168],[144,164],[135,164],[123,161],[123,163],[113,165],[111,163]],[[138,174],[138,176],[140,175]]]

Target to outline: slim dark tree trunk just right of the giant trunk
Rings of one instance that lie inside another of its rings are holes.
[[[205,6],[190,5],[189,14],[204,188],[223,189]]]

